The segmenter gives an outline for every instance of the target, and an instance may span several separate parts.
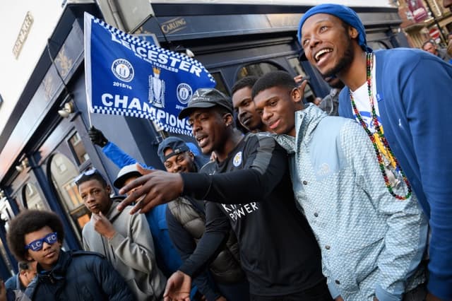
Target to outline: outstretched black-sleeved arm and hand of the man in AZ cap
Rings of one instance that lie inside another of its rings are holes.
[[[135,189],[122,201],[119,210],[139,199],[131,213],[145,213],[180,195],[216,203],[263,201],[287,172],[287,153],[271,136],[262,134],[250,139],[253,140],[247,145],[250,151],[246,154],[246,162],[242,163],[242,170],[217,175],[143,171],[146,175],[119,191],[125,194]]]

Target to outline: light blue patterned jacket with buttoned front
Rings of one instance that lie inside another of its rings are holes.
[[[289,153],[295,196],[321,247],[331,295],[401,300],[424,282],[419,264],[427,219],[417,200],[389,194],[371,141],[356,122],[328,117],[314,105],[295,119],[296,138],[275,138]],[[403,189],[396,193],[405,195]]]

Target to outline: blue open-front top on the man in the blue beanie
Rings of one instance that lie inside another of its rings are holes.
[[[429,218],[428,290],[452,299],[452,66],[419,49],[375,52],[384,134]],[[354,118],[350,91],[339,114]]]

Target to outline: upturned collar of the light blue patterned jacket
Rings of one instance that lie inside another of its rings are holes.
[[[276,135],[276,141],[280,143],[283,148],[289,154],[297,152],[297,146],[303,141],[304,143],[309,143],[311,140],[311,133],[316,129],[317,124],[324,117],[328,116],[319,107],[314,104],[307,104],[303,110],[295,112],[295,129],[296,137],[289,135]],[[297,143],[297,141],[299,143]]]

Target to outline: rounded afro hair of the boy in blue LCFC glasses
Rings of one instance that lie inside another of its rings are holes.
[[[56,213],[42,210],[25,209],[13,218],[8,225],[6,239],[8,247],[18,261],[27,261],[28,250],[25,249],[25,235],[48,226],[57,232],[58,241],[64,240],[64,228]]]

